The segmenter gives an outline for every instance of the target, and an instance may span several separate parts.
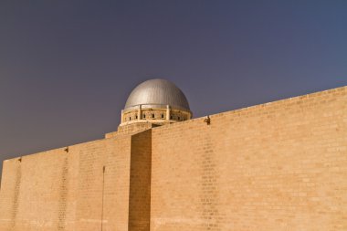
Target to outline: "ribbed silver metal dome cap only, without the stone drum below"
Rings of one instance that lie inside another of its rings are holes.
[[[124,110],[137,105],[143,105],[143,107],[170,105],[179,110],[190,111],[188,100],[182,90],[166,79],[150,79],[133,89]]]

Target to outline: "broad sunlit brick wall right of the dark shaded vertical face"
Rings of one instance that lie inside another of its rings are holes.
[[[347,230],[347,87],[152,129],[152,231]]]

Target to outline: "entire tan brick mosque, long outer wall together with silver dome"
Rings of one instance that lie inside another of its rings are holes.
[[[193,119],[132,90],[104,139],[3,163],[1,231],[345,231],[347,86]]]

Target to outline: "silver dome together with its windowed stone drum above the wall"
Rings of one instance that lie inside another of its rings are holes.
[[[132,90],[121,110],[120,129],[131,124],[164,125],[191,118],[192,111],[181,89],[168,80],[151,79]]]

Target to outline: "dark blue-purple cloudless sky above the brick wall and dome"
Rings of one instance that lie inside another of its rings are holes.
[[[347,1],[0,1],[0,161],[116,131],[172,80],[195,117],[347,85]]]

